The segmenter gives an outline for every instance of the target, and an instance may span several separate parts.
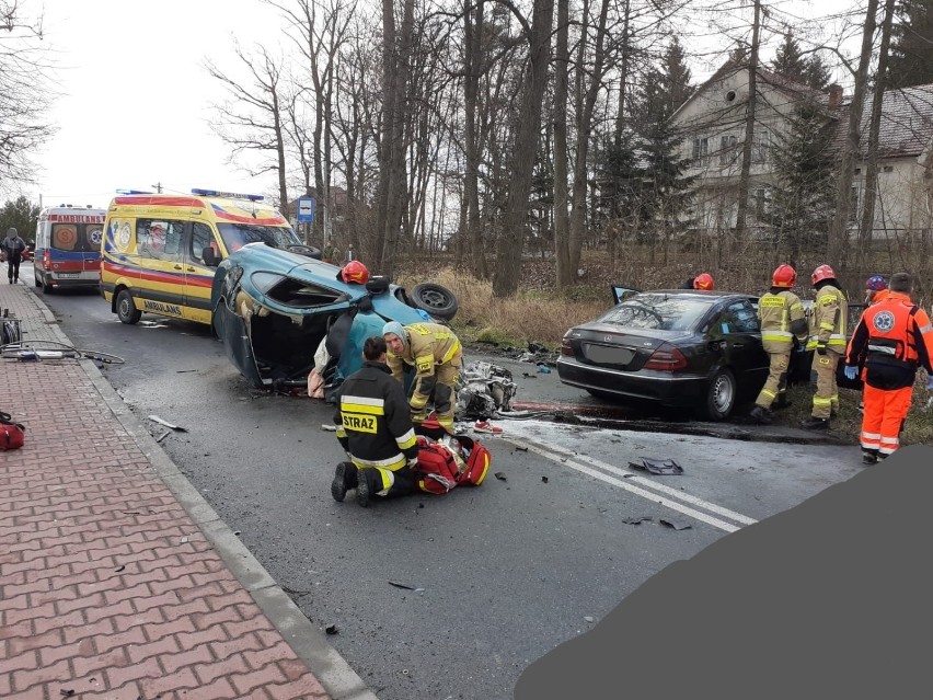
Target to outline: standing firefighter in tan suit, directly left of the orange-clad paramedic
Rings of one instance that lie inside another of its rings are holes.
[[[829,265],[814,269],[810,282],[816,289],[816,300],[810,314],[807,349],[815,351],[813,371],[816,372],[817,389],[810,417],[802,425],[811,431],[825,431],[829,427],[829,418],[839,411],[836,369],[845,353],[849,301]]]

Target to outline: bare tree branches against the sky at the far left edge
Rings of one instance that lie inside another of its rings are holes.
[[[46,118],[53,94],[42,39],[42,16],[0,0],[0,191],[35,181],[31,156],[55,133]]]

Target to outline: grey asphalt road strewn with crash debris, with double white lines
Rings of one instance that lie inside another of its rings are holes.
[[[251,389],[206,326],[123,325],[90,292],[44,300],[77,347],[125,358],[102,371],[143,422],[187,428],[163,449],[309,619],[337,627],[331,642],[382,700],[511,698],[531,662],[653,574],[861,469],[854,447],[512,420],[487,439],[497,477],[479,489],[362,509],[331,498],[343,451],[323,402]],[[517,399],[584,399],[526,371]],[[644,456],[684,474],[627,467]]]

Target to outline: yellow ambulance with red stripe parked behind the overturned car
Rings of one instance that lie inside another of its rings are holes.
[[[230,253],[263,242],[313,255],[262,199],[215,190],[114,197],[101,244],[101,294],[111,310],[129,324],[142,313],[209,324],[214,273]]]

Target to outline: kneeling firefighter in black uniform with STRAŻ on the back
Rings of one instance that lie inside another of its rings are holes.
[[[415,491],[418,446],[402,386],[385,364],[385,338],[369,337],[364,364],[341,385],[334,423],[350,461],[341,462],[331,483],[334,501],[356,489],[364,508],[373,495],[404,496]]]

